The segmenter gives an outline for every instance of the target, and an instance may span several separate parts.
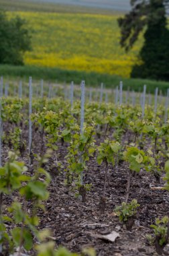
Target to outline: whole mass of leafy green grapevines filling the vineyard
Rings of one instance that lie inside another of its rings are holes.
[[[99,211],[104,214],[109,204],[106,198],[109,170],[113,172],[124,164],[126,193],[114,212],[128,230],[139,207],[136,199],[131,200],[133,177],[137,173],[150,172],[158,184],[153,189],[169,191],[168,106],[145,104],[144,95],[141,105],[139,102],[123,104],[122,85],[118,104],[102,100],[84,104],[84,97],[80,102],[73,95],[72,84],[69,99],[1,97],[0,250],[3,255],[16,249],[17,255],[22,255],[24,250],[31,251],[34,244],[39,256],[76,255],[64,248],[55,251],[49,230],[38,230],[38,212],[45,210],[44,201],[50,196],[51,170],[62,172],[65,186],[85,202],[93,185],[84,181],[91,159],[105,166],[99,201]],[[61,145],[66,147],[64,165],[60,159]],[[31,205],[30,212],[27,205]],[[152,228],[154,235],[148,234],[148,240],[161,254],[168,244],[168,216],[157,219]],[[85,249],[80,255],[92,256],[95,251]]]

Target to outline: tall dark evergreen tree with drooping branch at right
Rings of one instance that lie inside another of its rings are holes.
[[[131,11],[119,18],[120,44],[129,51],[144,31],[144,46],[131,77],[169,80],[169,31],[166,10],[169,0],[131,0]]]

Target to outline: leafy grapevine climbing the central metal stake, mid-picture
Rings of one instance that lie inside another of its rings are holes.
[[[62,131],[62,136],[65,141],[69,141],[68,154],[66,160],[66,183],[67,185],[74,184],[75,189],[78,189],[82,196],[82,201],[86,199],[86,193],[89,185],[83,184],[83,172],[87,170],[87,162],[95,152],[95,124],[88,126],[84,123],[82,134],[80,127],[74,125],[73,131],[65,129]]]

